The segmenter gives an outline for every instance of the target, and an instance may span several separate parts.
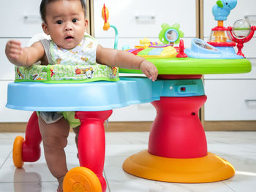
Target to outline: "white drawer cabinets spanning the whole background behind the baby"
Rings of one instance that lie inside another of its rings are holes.
[[[4,54],[8,39],[20,39],[26,45],[29,39],[42,32],[39,18],[41,0],[10,0],[2,1],[0,12],[0,122],[26,122],[31,112],[8,110],[7,84],[14,79],[14,67]],[[208,38],[211,28],[217,25],[211,13],[211,7],[217,0],[203,1],[203,31]],[[104,47],[113,47],[114,31],[110,28],[103,31],[101,11],[106,4],[110,12],[109,22],[118,28],[118,48],[123,45],[130,47],[138,45],[139,39],[147,37],[157,41],[162,23],[173,25],[179,23],[184,31],[185,47],[190,47],[191,39],[196,37],[196,4],[197,1],[166,1],[166,0],[94,0],[94,36]],[[10,7],[12,9],[10,9]],[[230,12],[225,26],[246,15],[256,15],[255,0],[238,0],[238,5]],[[256,120],[256,35],[244,45],[243,53],[252,62],[252,72],[249,74],[208,74],[204,76],[208,101],[205,105],[206,120]],[[231,110],[230,110],[231,109]],[[228,111],[230,110],[230,111]],[[155,110],[151,104],[140,104],[116,109],[110,120],[154,120]]]

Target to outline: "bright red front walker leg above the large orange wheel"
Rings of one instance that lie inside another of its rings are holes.
[[[78,156],[80,166],[93,171],[102,185],[102,192],[107,184],[102,175],[105,161],[105,129],[104,122],[110,117],[112,110],[99,112],[75,112],[80,119],[78,136]]]

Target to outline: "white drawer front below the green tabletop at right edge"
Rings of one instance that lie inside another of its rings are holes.
[[[256,80],[205,80],[205,120],[256,120]]]

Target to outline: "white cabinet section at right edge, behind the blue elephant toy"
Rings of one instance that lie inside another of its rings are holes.
[[[204,3],[204,37],[207,40],[211,28],[217,25],[211,14],[215,0]],[[256,15],[255,0],[238,0],[231,10],[224,26],[233,26],[238,19],[246,15]],[[251,20],[252,22],[252,20]],[[252,23],[255,24],[255,23]],[[205,120],[256,120],[256,35],[244,44],[242,52],[252,63],[252,72],[248,74],[207,74],[204,75],[208,100],[205,104]]]

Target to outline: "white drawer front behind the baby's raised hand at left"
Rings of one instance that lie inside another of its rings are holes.
[[[15,72],[14,72],[14,65],[10,63],[10,61],[7,59],[7,56],[5,55],[5,45],[7,44],[7,41],[10,39],[0,39],[0,64],[1,64],[1,70],[0,70],[0,80],[14,80],[15,79]],[[18,39],[21,42],[22,47],[26,47],[26,45],[29,42],[29,39]]]

